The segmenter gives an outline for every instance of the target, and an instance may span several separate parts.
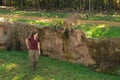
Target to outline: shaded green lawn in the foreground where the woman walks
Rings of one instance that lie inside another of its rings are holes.
[[[0,51],[0,80],[120,80],[79,64],[40,56],[36,71],[29,68],[26,51]]]

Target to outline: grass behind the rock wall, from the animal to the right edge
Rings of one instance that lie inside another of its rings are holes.
[[[120,27],[108,26],[105,24],[98,25],[79,25],[78,29],[82,29],[88,38],[116,38],[120,37]]]

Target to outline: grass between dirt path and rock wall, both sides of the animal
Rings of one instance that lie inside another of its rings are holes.
[[[13,19],[12,21],[20,21],[30,24],[37,24],[40,26],[53,27],[56,23],[61,24],[62,21],[56,20],[51,22],[40,22],[37,20],[27,20],[27,19]],[[110,26],[105,24],[83,24],[78,25],[77,29],[82,29],[88,38],[117,38],[120,37],[120,27]]]

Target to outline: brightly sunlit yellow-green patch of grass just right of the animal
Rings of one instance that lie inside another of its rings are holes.
[[[106,24],[99,24],[99,25],[81,25],[81,29],[84,30],[87,38],[100,38],[105,37],[109,33],[108,25]]]

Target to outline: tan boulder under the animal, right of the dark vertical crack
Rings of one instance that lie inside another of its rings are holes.
[[[64,58],[73,63],[83,64],[88,66],[89,64],[95,64],[91,56],[89,55],[86,37],[83,31],[73,30],[68,35],[68,38],[63,38],[64,42]]]

